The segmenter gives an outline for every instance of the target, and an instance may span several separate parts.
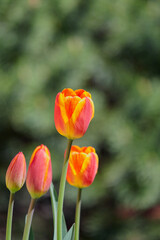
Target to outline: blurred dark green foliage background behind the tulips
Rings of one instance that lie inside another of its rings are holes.
[[[9,191],[5,172],[23,151],[48,146],[58,191],[66,139],[54,126],[64,88],[92,94],[95,117],[83,138],[99,155],[99,172],[83,191],[81,240],[160,239],[160,1],[0,1],[0,239]],[[74,222],[76,189],[64,211]],[[22,239],[30,201],[16,194],[13,240]],[[38,240],[52,239],[49,193],[33,219]]]

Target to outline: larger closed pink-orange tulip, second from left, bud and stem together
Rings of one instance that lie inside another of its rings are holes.
[[[31,195],[31,202],[25,221],[23,240],[29,239],[36,200],[49,190],[51,181],[51,156],[48,148],[42,144],[34,150],[27,173],[26,186]]]

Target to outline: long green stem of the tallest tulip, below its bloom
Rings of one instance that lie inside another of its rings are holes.
[[[69,160],[69,154],[70,154],[72,142],[73,140],[68,139],[68,145],[66,149],[66,155],[63,163],[62,175],[61,175],[60,186],[59,186],[58,210],[57,210],[57,240],[62,240],[62,211],[63,211],[64,190],[65,190],[68,160]]]

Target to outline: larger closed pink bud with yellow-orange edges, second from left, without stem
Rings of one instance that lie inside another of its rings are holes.
[[[34,150],[29,163],[26,185],[31,197],[39,198],[45,194],[51,181],[51,156],[48,148],[42,144]]]

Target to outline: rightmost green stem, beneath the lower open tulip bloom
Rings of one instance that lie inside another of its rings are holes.
[[[82,189],[78,189],[77,203],[76,203],[76,215],[75,215],[75,238],[74,240],[79,240],[79,226],[80,226],[80,213],[81,213],[81,193]]]

